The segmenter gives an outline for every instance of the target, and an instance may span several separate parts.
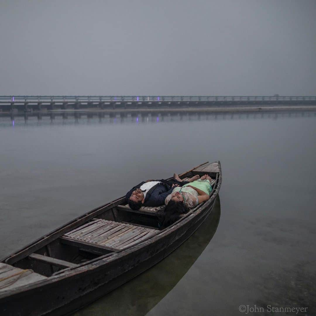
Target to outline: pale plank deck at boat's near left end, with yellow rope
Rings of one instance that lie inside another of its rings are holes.
[[[0,263],[0,292],[44,279],[47,279],[47,277],[35,273],[33,270],[24,270],[9,264]]]

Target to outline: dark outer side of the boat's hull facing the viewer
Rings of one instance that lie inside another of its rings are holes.
[[[215,199],[181,227],[134,251],[120,253],[111,262],[99,260],[83,267],[80,272],[57,276],[54,282],[4,297],[0,301],[1,314],[65,315],[88,305],[149,269],[180,246],[204,222],[214,204]]]

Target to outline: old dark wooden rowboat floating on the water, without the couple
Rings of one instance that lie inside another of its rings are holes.
[[[212,211],[222,183],[220,162],[208,173],[210,199],[160,230],[162,207],[131,210],[120,197],[41,237],[0,262],[1,315],[64,315],[119,287],[176,249]],[[172,179],[172,178],[169,178]]]

